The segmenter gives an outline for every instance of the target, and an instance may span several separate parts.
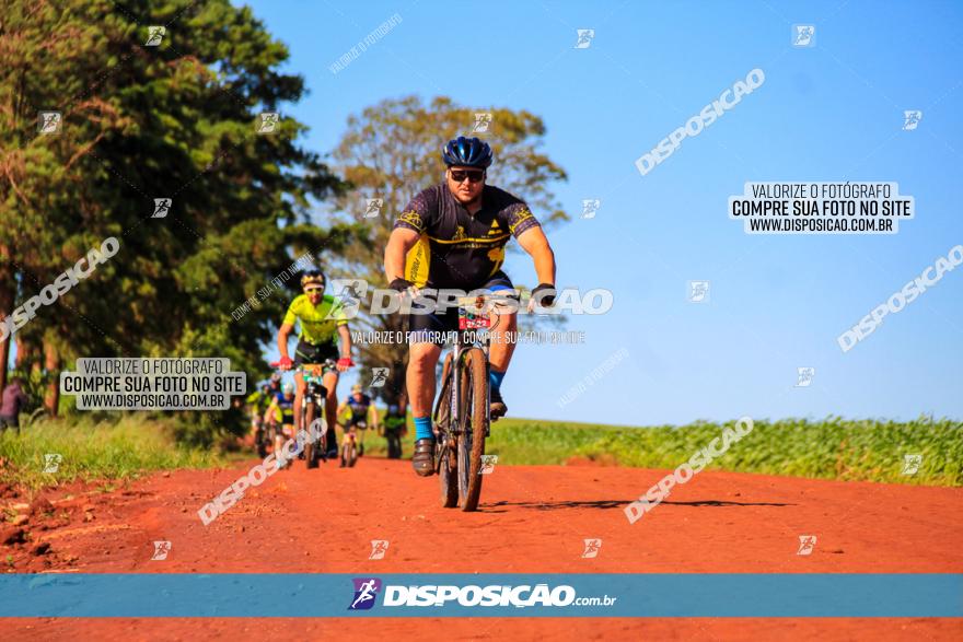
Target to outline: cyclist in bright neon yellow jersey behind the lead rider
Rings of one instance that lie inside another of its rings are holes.
[[[327,280],[320,270],[304,272],[301,277],[301,289],[304,293],[291,302],[278,330],[278,351],[281,354],[278,367],[290,370],[294,365],[303,363],[320,364],[328,359],[337,361],[335,369],[325,369],[322,380],[327,393],[324,405],[327,421],[327,456],[333,458],[338,456],[338,445],[335,437],[338,373],[345,372],[355,365],[355,362],[351,361],[351,334],[348,331],[348,319],[341,304],[334,296],[324,293],[326,284]],[[288,355],[288,338],[294,331],[294,324],[298,324],[299,331],[298,347],[294,349],[292,361]],[[338,352],[338,338],[341,340],[340,353]],[[294,375],[294,381],[298,384],[294,399],[294,425],[301,425],[301,397],[304,396],[304,377],[299,372]]]

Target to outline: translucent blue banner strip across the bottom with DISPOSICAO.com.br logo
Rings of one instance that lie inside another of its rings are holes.
[[[961,574],[0,575],[0,617],[963,617]]]

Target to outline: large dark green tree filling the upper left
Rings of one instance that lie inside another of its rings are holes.
[[[5,0],[2,15],[0,314],[105,237],[120,243],[19,346],[48,369],[80,355],[210,354],[264,374],[286,293],[232,312],[295,252],[326,258],[358,229],[305,224],[343,186],[285,114],[304,93],[278,70],[287,48],[228,0]],[[37,131],[40,110],[61,113],[58,135]],[[159,198],[171,206],[153,218]]]

